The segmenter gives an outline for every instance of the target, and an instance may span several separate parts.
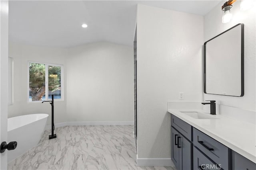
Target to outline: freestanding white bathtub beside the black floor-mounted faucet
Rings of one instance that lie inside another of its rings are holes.
[[[8,118],[8,142],[17,141],[15,150],[9,150],[11,162],[29,149],[38,145],[47,122],[48,114],[30,114]]]

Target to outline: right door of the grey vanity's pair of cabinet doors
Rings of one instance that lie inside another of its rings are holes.
[[[180,170],[192,170],[192,143],[190,143],[188,139],[180,134],[178,139],[178,147],[180,147]]]

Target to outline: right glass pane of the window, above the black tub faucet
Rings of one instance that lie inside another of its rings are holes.
[[[60,66],[48,66],[48,98],[54,99],[61,98],[61,67]]]

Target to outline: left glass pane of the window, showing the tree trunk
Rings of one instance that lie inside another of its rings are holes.
[[[29,63],[29,101],[45,100],[45,64]]]

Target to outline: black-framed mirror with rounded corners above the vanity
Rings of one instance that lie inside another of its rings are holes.
[[[204,93],[244,96],[244,24],[204,43]]]

